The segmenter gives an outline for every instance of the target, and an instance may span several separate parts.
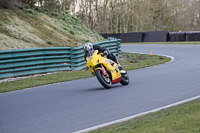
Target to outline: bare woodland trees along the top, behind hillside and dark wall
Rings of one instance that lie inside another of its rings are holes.
[[[99,33],[200,30],[200,0],[0,0],[68,11]]]

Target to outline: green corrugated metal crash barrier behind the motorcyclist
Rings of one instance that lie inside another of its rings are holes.
[[[119,56],[120,39],[95,44]],[[83,47],[50,47],[0,51],[0,79],[86,67]]]

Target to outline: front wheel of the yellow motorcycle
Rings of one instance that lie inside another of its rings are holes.
[[[109,89],[112,87],[112,82],[109,77],[106,77],[101,70],[95,71],[96,77],[99,82],[106,88]]]

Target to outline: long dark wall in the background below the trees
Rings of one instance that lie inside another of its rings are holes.
[[[168,32],[168,31],[150,31],[150,32],[133,32],[117,34],[101,34],[104,38],[118,38],[122,43],[136,42],[184,42],[200,41],[200,31],[188,32]]]

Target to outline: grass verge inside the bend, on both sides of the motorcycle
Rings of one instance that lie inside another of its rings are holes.
[[[128,71],[128,70],[134,70],[134,69],[162,64],[170,60],[171,60],[170,58],[158,55],[150,56],[146,54],[137,54],[137,53],[122,53],[122,58],[120,58],[119,61],[120,64],[124,67],[124,69]],[[0,93],[14,91],[14,90],[21,90],[25,88],[31,88],[46,84],[82,79],[92,76],[93,75],[91,74],[90,71],[80,70],[80,71],[65,71],[41,77],[33,77],[33,78],[26,78],[9,82],[2,82],[0,83]]]

